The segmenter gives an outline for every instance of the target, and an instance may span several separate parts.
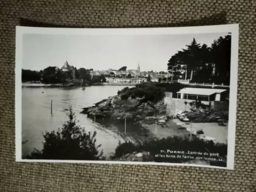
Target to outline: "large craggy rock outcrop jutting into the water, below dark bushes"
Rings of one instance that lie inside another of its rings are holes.
[[[166,104],[163,100],[157,103],[142,102],[143,98],[131,98],[122,100],[119,95],[111,96],[95,104],[95,106],[83,108],[81,113],[89,117],[103,117],[110,119],[123,119],[138,121],[147,120],[154,123],[158,119],[167,120]]]

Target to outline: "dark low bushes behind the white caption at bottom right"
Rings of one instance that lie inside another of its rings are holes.
[[[156,154],[159,154],[161,150],[167,151],[197,151],[208,153],[218,153],[219,158],[224,162],[226,161],[226,156],[228,152],[227,144],[214,143],[212,141],[205,141],[198,137],[180,137],[172,136],[167,138],[155,138],[152,140],[147,140],[145,142],[124,142],[118,144],[116,147],[115,153],[112,156],[112,159],[120,158],[126,154],[132,152],[149,152],[153,157],[154,162],[170,162],[170,163],[184,163],[192,159],[185,158],[162,158],[157,157]]]

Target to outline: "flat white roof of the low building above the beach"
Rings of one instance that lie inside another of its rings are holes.
[[[226,91],[226,89],[184,88],[177,93],[210,96],[212,94],[222,93],[224,91]]]

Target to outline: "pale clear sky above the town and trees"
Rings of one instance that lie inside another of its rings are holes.
[[[61,68],[66,60],[77,69],[118,70],[122,66],[141,71],[167,71],[168,60],[186,48],[193,38],[211,46],[227,33],[171,35],[50,35],[23,34],[22,68]]]

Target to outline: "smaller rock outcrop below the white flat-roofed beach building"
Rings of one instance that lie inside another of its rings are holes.
[[[181,121],[187,122],[216,122],[219,125],[225,126],[226,122],[228,122],[228,110],[190,109],[189,112],[184,111],[180,114],[177,114],[177,118]]]

